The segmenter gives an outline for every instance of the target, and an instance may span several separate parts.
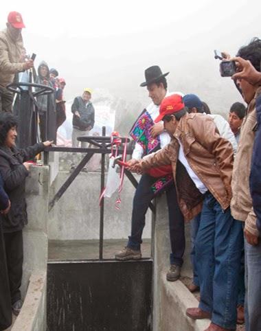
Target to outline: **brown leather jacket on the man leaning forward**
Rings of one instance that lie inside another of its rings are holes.
[[[231,200],[233,149],[229,141],[220,137],[213,119],[207,115],[194,113],[181,117],[174,139],[162,150],[144,157],[142,169],[171,163],[181,212],[185,220],[196,216],[201,211],[203,195],[178,161],[179,141],[192,170],[221,207],[227,209]]]

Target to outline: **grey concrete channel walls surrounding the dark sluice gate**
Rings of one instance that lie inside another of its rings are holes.
[[[100,210],[100,174],[82,173],[69,187],[51,213],[48,214],[49,196],[57,192],[67,178],[68,173],[58,174],[49,192],[49,168],[32,167],[27,179],[28,225],[24,234],[24,273],[22,293],[25,304],[21,315],[14,323],[13,331],[46,328],[46,267],[47,233],[50,239],[84,240],[98,238]],[[126,238],[130,230],[132,198],[134,189],[125,180],[120,211],[114,207],[115,198],[105,203],[104,238]],[[91,206],[91,207],[90,207]],[[150,217],[144,237],[150,237]],[[186,225],[187,248],[182,273],[191,275],[190,235]],[[192,321],[185,316],[188,307],[197,306],[198,301],[180,282],[167,282],[166,272],[170,266],[170,238],[168,230],[168,208],[166,196],[157,198],[157,215],[154,238],[154,274],[153,274],[153,330],[154,331],[202,331],[209,321]],[[28,287],[29,284],[29,287]]]

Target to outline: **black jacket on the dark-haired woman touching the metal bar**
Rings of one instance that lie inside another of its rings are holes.
[[[11,201],[10,212],[7,215],[0,214],[4,233],[19,231],[27,224],[25,178],[29,172],[23,162],[33,159],[44,148],[43,143],[23,149],[0,146],[0,172],[5,192]]]

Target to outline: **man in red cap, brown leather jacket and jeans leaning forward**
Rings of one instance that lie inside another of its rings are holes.
[[[178,95],[161,102],[155,122],[163,119],[172,141],[137,161],[131,170],[172,165],[185,220],[201,211],[195,243],[201,299],[198,308],[188,308],[186,313],[192,319],[212,319],[205,331],[235,330],[243,242],[240,221],[229,209],[233,149],[220,137],[212,118],[188,114],[185,107],[180,108],[181,102]]]

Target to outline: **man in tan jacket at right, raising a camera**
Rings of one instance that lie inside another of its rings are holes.
[[[254,38],[249,45],[241,47],[238,56],[250,61],[256,71],[260,72],[261,40]],[[238,70],[244,69],[242,64],[245,62],[238,58],[235,60],[239,60],[237,62]],[[231,184],[233,193],[231,213],[236,219],[245,222],[246,331],[259,331],[261,330],[261,242],[249,190],[249,176],[257,123],[256,99],[261,95],[261,87],[260,80],[247,80],[243,73],[236,73],[234,78],[240,91],[242,91],[242,97],[247,102],[248,108],[240,129],[238,152],[234,162]],[[261,144],[261,142],[259,141],[258,144]]]

